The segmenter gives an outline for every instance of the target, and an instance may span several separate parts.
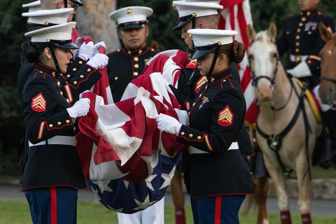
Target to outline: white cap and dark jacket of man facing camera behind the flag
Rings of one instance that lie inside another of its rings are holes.
[[[147,17],[152,13],[153,9],[151,8],[132,6],[112,12],[110,18],[117,21],[118,32],[120,32],[122,30],[147,28]],[[106,69],[115,103],[120,101],[126,86],[141,74],[146,63],[159,53],[159,51],[148,48],[145,40],[146,38],[144,39],[144,46],[137,49],[124,46],[122,49],[107,54],[109,63]]]

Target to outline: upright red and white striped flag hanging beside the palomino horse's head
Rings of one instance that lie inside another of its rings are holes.
[[[244,43],[246,46],[245,57],[238,64],[238,70],[241,79],[240,86],[246,100],[245,124],[251,125],[255,123],[259,109],[256,107],[255,90],[251,84],[250,71],[247,67],[249,39],[246,27],[248,24],[252,25],[250,2],[249,0],[220,0],[219,4],[223,6],[220,11],[219,28],[222,30],[236,30],[238,34],[234,36],[235,40]]]

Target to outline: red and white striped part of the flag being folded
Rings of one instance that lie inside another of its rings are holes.
[[[184,150],[183,144],[176,143],[175,135],[160,132],[155,119],[164,113],[182,124],[188,120],[168,86],[177,80],[172,76],[178,75],[175,70],[179,71],[188,60],[182,51],[176,50],[172,55],[153,60],[152,66],[128,85],[118,103],[106,105],[102,97],[92,92],[82,94],[90,99],[91,106],[88,115],[80,119],[81,133],[77,135],[86,179],[140,182],[152,174],[158,163],[158,150],[168,157]],[[168,64],[175,69],[168,71]],[[165,74],[172,77],[170,83],[163,78]]]

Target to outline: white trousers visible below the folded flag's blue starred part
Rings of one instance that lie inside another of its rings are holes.
[[[118,212],[119,224],[164,224],[164,199],[165,197],[152,206],[133,214]]]

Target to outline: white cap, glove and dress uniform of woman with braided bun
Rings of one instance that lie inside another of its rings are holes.
[[[210,29],[188,32],[196,49],[191,59],[216,52],[221,44],[232,43],[230,35],[237,33]],[[218,42],[214,43],[215,40]],[[237,143],[244,124],[245,99],[239,79],[232,75],[230,67],[208,75],[207,80],[192,102],[188,125],[176,126],[177,142],[189,146],[183,153],[185,184],[191,197],[194,223],[239,223],[239,207],[246,194],[254,193],[250,169]],[[157,121],[159,129],[170,132],[160,127],[160,115]]]

